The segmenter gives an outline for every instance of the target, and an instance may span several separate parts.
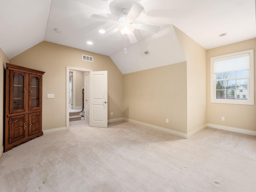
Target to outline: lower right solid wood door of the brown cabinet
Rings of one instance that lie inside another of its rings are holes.
[[[41,112],[28,114],[28,136],[41,132],[42,125]]]

